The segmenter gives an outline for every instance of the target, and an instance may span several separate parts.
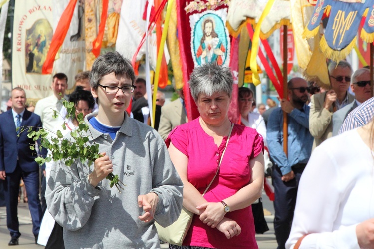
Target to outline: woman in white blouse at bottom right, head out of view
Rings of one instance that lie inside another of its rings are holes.
[[[318,146],[300,180],[287,249],[374,248],[374,121]]]

